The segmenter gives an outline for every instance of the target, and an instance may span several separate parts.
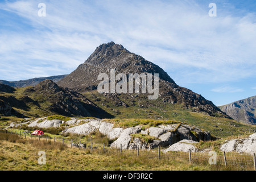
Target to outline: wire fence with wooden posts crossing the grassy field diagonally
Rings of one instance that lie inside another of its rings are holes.
[[[255,153],[243,153],[238,152],[164,152],[167,148],[163,147],[149,147],[141,149],[138,146],[134,146],[133,149],[127,149],[122,147],[122,144],[118,147],[113,147],[111,144],[104,143],[81,143],[77,139],[67,139],[63,137],[48,137],[45,135],[32,135],[29,131],[3,131],[3,133],[16,134],[22,139],[37,139],[46,140],[52,142],[60,142],[67,145],[70,148],[77,148],[77,150],[86,150],[90,154],[105,154],[105,155],[127,155],[144,157],[147,159],[159,159],[159,160],[175,160],[176,162],[188,162],[191,164],[205,164],[218,166],[232,166],[236,169],[254,170],[256,171]]]

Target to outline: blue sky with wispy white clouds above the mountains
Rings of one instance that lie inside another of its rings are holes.
[[[215,105],[256,95],[254,0],[0,1],[0,80],[69,74],[111,41]]]

